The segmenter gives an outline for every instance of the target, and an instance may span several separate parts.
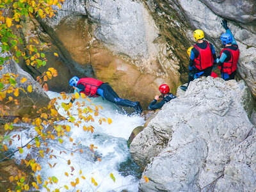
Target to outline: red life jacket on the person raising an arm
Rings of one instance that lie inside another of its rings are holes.
[[[220,57],[221,57],[221,54],[223,51],[227,50],[230,52],[230,55],[231,55],[231,59],[229,61],[225,61],[223,63],[223,66],[219,66],[221,72],[224,72],[228,75],[230,75],[232,72],[234,72],[237,68],[237,61],[238,61],[238,58],[239,58],[239,49],[238,47],[236,47],[237,50],[234,51],[232,49],[229,49],[229,48],[224,48],[222,49],[222,51],[220,52]]]

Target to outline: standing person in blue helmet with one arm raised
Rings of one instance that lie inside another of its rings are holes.
[[[226,33],[220,36],[221,42],[225,48],[222,49],[220,56],[217,58],[217,65],[220,68],[221,78],[228,81],[235,79],[239,49],[234,36],[228,28],[227,20],[223,19],[221,25],[226,30]]]

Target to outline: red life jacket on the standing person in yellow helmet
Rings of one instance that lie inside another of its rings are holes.
[[[206,49],[201,49],[196,44],[194,45],[195,49],[198,51],[198,57],[195,58],[195,67],[199,70],[203,70],[213,65],[213,56],[210,44],[208,42],[205,43],[207,43]]]

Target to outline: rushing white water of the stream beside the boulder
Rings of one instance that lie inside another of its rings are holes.
[[[50,98],[60,96],[55,92],[47,92],[47,94]],[[79,99],[79,101],[82,102],[83,99]],[[67,100],[60,100],[58,104],[61,104],[61,102],[67,102]],[[63,137],[62,144],[58,141],[51,141],[48,147],[53,150],[52,154],[57,158],[40,158],[42,180],[47,180],[53,176],[58,179],[56,184],[47,185],[51,191],[56,188],[60,188],[60,191],[67,191],[63,186],[68,186],[68,191],[122,191],[123,189],[138,191],[139,180],[136,176],[138,176],[139,168],[131,161],[127,139],[135,127],[144,124],[143,118],[135,114],[124,114],[115,104],[102,100],[101,97],[93,98],[92,102],[103,107],[99,116],[111,118],[112,124],[102,123],[100,125],[98,116],[93,116],[95,122],[82,123],[79,127],[67,121],[60,122],[60,124],[68,124],[72,127],[68,132],[68,137],[71,137],[74,140],[73,143],[77,145],[73,145],[65,137]],[[90,105],[90,102],[88,102],[88,105]],[[58,112],[63,115],[61,109]],[[76,108],[72,109],[71,113],[76,117]],[[93,125],[95,127],[94,132],[84,131],[83,125]],[[22,140],[25,143],[28,138],[22,138]],[[95,154],[89,148],[91,144],[97,147],[94,148]],[[80,152],[80,148],[83,153]],[[79,150],[72,155],[72,150],[76,149]],[[100,158],[101,161],[98,161],[97,158]],[[69,160],[70,164],[68,165]],[[50,168],[49,164],[52,166],[55,164],[55,166]],[[68,173],[68,177],[65,172]],[[115,177],[115,181],[113,178],[111,179],[111,173]],[[84,176],[85,179],[81,176]],[[71,182],[76,183],[77,177],[79,178],[79,183],[74,189],[71,186]],[[97,186],[92,183],[92,178],[97,182]],[[47,190],[43,187],[40,191]]]

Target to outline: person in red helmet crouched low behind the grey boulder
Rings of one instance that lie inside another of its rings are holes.
[[[170,93],[170,88],[167,84],[161,84],[159,86],[159,92],[162,93],[160,96],[156,95],[155,99],[149,104],[148,109],[149,110],[156,110],[161,109],[166,102],[169,102],[170,100],[176,98],[175,95]],[[160,102],[157,102],[157,100],[162,99]]]

